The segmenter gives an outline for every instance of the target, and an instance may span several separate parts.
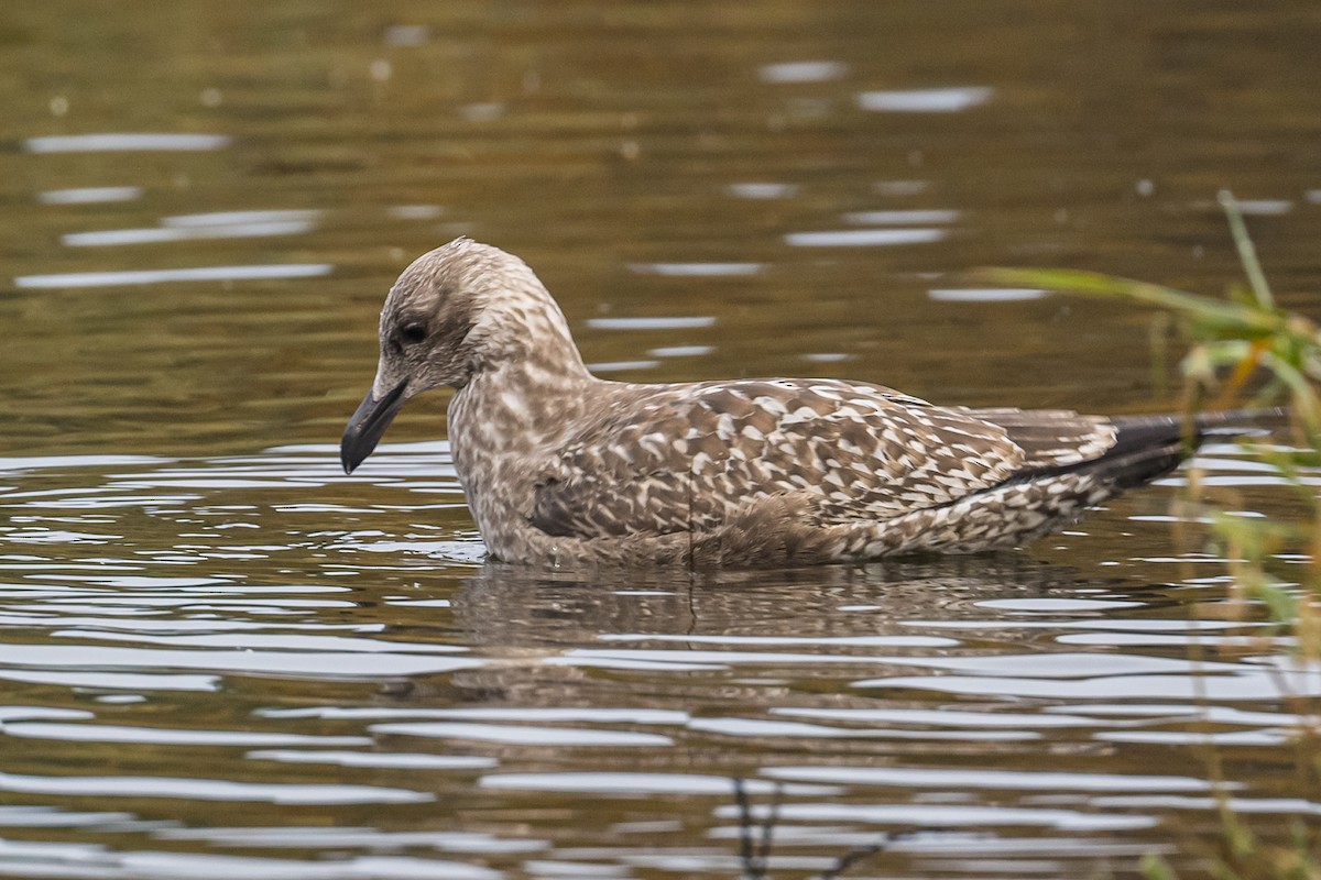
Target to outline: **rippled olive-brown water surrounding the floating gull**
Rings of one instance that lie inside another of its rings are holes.
[[[736,877],[740,777],[774,877],[896,831],[847,876],[1197,876],[1210,745],[1318,821],[1316,670],[1176,553],[1177,480],[1017,555],[583,579],[483,567],[444,394],[336,462],[458,234],[610,377],[1170,406],[1148,315],[960,272],[1218,292],[1230,187],[1314,314],[1318,45],[1310,3],[5,4],[0,875]]]

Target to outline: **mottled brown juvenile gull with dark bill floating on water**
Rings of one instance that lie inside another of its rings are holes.
[[[380,311],[346,472],[407,400],[453,387],[449,442],[490,555],[766,566],[1013,548],[1173,470],[1173,416],[935,406],[868,383],[635,384],[588,372],[532,270],[457,239]],[[1231,422],[1211,414],[1197,433]]]

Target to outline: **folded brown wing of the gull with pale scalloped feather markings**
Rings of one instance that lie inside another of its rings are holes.
[[[580,538],[707,532],[773,495],[816,525],[880,521],[1042,467],[1099,456],[1103,418],[941,408],[836,380],[621,385],[617,417],[573,438],[531,524]]]

